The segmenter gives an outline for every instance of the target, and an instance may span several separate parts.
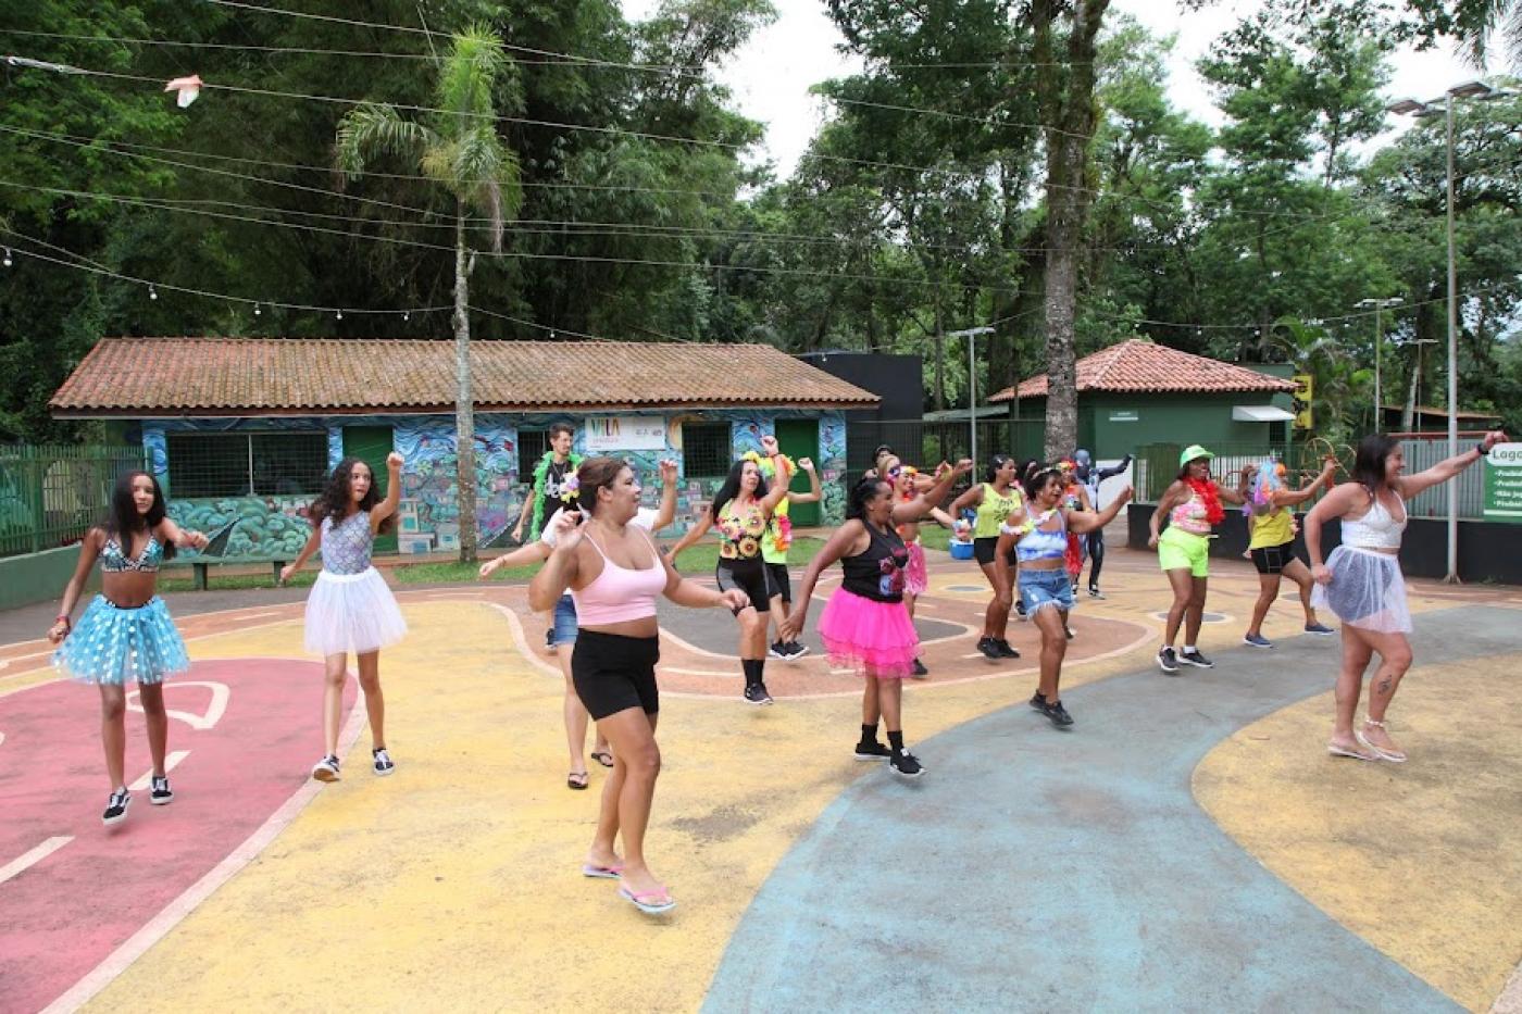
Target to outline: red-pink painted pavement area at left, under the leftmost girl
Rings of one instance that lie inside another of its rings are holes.
[[[0,868],[50,837],[72,842],[0,883],[0,1011],[38,1011],[212,871],[307,780],[323,752],[323,667],[285,659],[195,662],[169,681],[170,711],[205,716],[228,688],[216,725],[170,714],[175,799],[132,792],[126,821],[100,824],[110,793],[93,687],[50,682],[0,697]],[[356,699],[349,681],[345,716]],[[135,703],[135,697],[129,697]],[[126,716],[126,781],[151,767],[140,711]]]

